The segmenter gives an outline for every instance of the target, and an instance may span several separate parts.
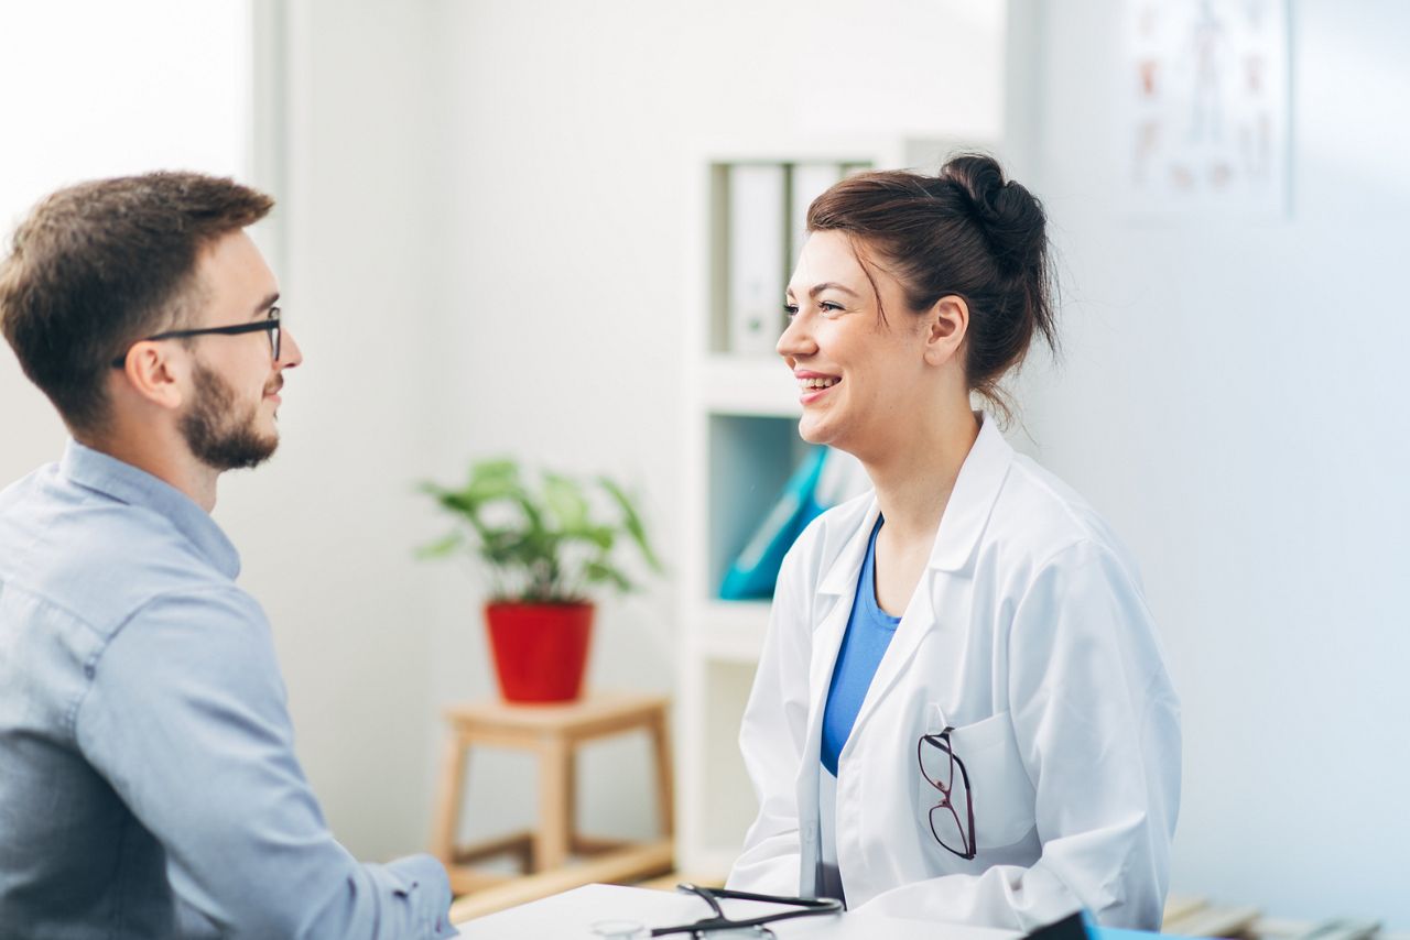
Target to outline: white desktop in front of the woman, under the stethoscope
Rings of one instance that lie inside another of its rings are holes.
[[[725,915],[750,916],[781,910],[777,905],[750,901],[722,901]],[[619,885],[584,885],[553,898],[501,910],[471,920],[460,929],[464,940],[598,940],[591,926],[599,920],[636,920],[650,927],[664,927],[699,920],[709,906],[692,895]],[[984,927],[936,926],[921,920],[845,913],[840,916],[802,917],[770,924],[780,940],[1015,940],[1019,934]],[[671,934],[681,940],[689,934]]]

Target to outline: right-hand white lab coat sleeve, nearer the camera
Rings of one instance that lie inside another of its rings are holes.
[[[1079,908],[1159,930],[1180,799],[1180,709],[1141,590],[1080,543],[1034,575],[1008,634],[1014,733],[1042,855],[894,888],[862,909],[1031,932]]]

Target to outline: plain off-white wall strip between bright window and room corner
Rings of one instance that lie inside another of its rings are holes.
[[[290,4],[281,286],[303,365],[269,466],[221,483],[217,520],[274,624],[299,754],[355,854],[423,850],[434,572],[413,483],[433,469],[439,155],[424,4]]]

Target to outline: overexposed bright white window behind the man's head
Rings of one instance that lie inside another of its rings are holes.
[[[0,76],[16,93],[0,137],[0,251],[34,203],[61,186],[154,165],[240,171],[250,72],[243,7],[54,0],[3,11]],[[123,30],[133,32],[113,42]],[[180,125],[172,113],[186,116]],[[55,459],[65,438],[0,342],[0,486]]]

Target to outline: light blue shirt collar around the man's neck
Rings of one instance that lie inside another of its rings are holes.
[[[226,533],[210,513],[171,483],[75,440],[63,448],[59,474],[85,489],[152,510],[176,526],[223,575],[231,581],[240,575],[240,552]]]

